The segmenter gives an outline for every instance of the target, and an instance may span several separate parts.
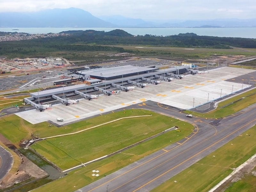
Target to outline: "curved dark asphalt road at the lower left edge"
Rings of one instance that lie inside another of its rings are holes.
[[[0,180],[9,172],[12,167],[12,155],[0,146]]]

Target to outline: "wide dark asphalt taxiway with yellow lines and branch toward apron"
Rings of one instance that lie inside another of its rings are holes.
[[[187,118],[175,108],[151,101],[147,101],[144,108],[189,121],[195,125],[195,130],[187,138],[78,189],[77,192],[150,191],[256,123],[256,105],[224,119]]]

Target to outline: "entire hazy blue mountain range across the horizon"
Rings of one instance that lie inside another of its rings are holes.
[[[165,27],[256,27],[256,19],[146,21],[121,15],[93,16],[78,8],[38,12],[1,12],[2,28],[165,28]]]

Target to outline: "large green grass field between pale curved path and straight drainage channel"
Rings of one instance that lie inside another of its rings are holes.
[[[122,119],[78,134],[42,140],[31,148],[65,170],[181,125],[179,120],[151,113],[152,116]]]

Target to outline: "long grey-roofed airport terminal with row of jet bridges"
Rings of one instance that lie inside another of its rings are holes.
[[[79,70],[65,74],[68,79],[55,81],[58,88],[34,92],[29,98],[24,99],[25,104],[30,104],[43,111],[55,103],[70,104],[85,98],[91,100],[103,94],[117,94],[129,91],[135,87],[145,87],[146,84],[159,84],[161,81],[172,81],[182,78],[189,73],[186,66],[159,69],[154,67],[137,67],[125,65],[112,68],[97,68]],[[78,82],[80,84],[78,84]],[[81,84],[81,82],[83,82]],[[72,83],[70,86],[69,84]]]

